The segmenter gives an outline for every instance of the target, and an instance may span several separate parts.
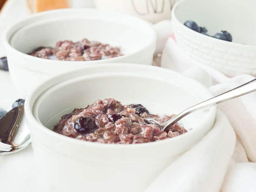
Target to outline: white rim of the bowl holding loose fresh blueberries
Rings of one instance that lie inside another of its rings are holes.
[[[183,23],[180,22],[180,20],[176,17],[175,15],[175,12],[177,10],[178,7],[184,5],[185,2],[187,2],[188,0],[180,0],[178,1],[174,6],[173,6],[173,9],[172,9],[172,20],[177,23],[177,25],[179,27],[181,27],[182,29],[184,30],[187,30],[187,33],[192,33],[192,34],[195,34],[197,35],[197,37],[201,37],[203,39],[207,39],[208,41],[212,41],[212,42],[215,42],[215,43],[222,43],[222,44],[226,44],[228,46],[237,46],[237,47],[246,47],[246,48],[256,48],[256,45],[250,45],[250,44],[241,44],[241,43],[237,43],[237,42],[229,42],[229,41],[224,41],[224,40],[221,40],[221,39],[217,39],[217,38],[214,38],[214,37],[211,37],[211,36],[208,36],[208,35],[204,35],[204,34],[201,34],[201,33],[198,33],[192,29],[189,29],[188,27],[186,27]]]

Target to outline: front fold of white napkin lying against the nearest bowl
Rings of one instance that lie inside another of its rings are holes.
[[[217,192],[221,188],[236,136],[218,111],[214,128],[161,173],[146,192]],[[225,146],[225,147],[223,147]]]

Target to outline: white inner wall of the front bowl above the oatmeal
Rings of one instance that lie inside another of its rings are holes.
[[[162,69],[157,67],[136,73],[132,71],[143,69],[136,69],[133,65],[130,69],[121,69],[120,64],[118,72],[111,72],[118,70],[113,66],[116,65],[101,65],[96,74],[90,73],[88,68],[88,74],[76,74],[72,78],[67,76],[66,80],[51,86],[38,97],[33,109],[34,116],[45,127],[53,129],[63,114],[70,113],[74,108],[85,107],[98,99],[114,98],[123,104],[142,103],[151,113],[161,116],[179,113],[211,95],[200,84],[166,69],[163,71],[167,71],[169,76],[162,74]],[[151,73],[154,71],[167,76],[153,76]],[[201,123],[205,124],[214,118],[213,109],[211,107],[192,113],[182,119],[181,123],[187,130],[200,128]]]

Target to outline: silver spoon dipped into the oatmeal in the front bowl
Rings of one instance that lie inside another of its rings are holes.
[[[253,91],[256,91],[256,79],[253,79],[245,84],[242,84],[241,86],[238,86],[234,89],[231,89],[229,91],[226,91],[225,93],[219,94],[215,97],[212,97],[210,99],[207,99],[206,101],[203,101],[201,103],[198,103],[196,105],[191,106],[188,109],[185,109],[180,114],[177,114],[173,118],[171,118],[169,121],[166,121],[165,123],[159,123],[158,121],[155,121],[150,118],[144,118],[144,121],[146,123],[155,124],[157,125],[162,131],[168,130],[172,125],[177,123],[181,118],[187,116],[188,114],[197,111],[199,109],[215,105],[217,103],[221,103],[223,101],[227,101],[229,99],[233,99],[236,97],[239,97],[241,95],[245,95],[248,93],[251,93]]]

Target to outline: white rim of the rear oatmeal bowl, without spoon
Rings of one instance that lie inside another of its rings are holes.
[[[37,14],[33,14],[30,15],[24,19],[20,19],[18,22],[15,22],[13,25],[9,26],[7,29],[4,30],[3,33],[3,44],[5,46],[5,48],[11,49],[12,51],[14,51],[16,54],[19,54],[20,56],[23,57],[27,57],[28,59],[34,59],[35,61],[43,61],[43,62],[54,62],[54,63],[60,63],[60,64],[64,64],[65,63],[69,63],[69,62],[74,62],[74,61],[63,61],[63,60],[50,60],[50,59],[43,59],[43,58],[39,58],[39,57],[35,57],[35,56],[31,56],[29,54],[23,53],[17,49],[15,49],[11,44],[10,44],[10,40],[11,37],[20,29],[22,29],[22,27],[26,26],[26,25],[31,25],[32,23],[37,23],[40,22],[40,18],[45,16],[45,15],[50,15],[50,14],[58,14],[58,13],[65,13],[65,12],[82,12],[82,11],[91,11],[91,12],[101,12],[101,13],[106,13],[106,14],[112,14],[112,15],[118,15],[118,16],[123,16],[126,18],[131,18],[131,19],[135,19],[138,20],[138,22],[142,23],[144,27],[147,28],[147,30],[151,32],[151,40],[150,42],[148,42],[147,44],[144,44],[140,47],[140,49],[138,49],[136,52],[132,52],[132,53],[128,53],[128,54],[124,54],[123,56],[118,56],[118,57],[113,57],[113,58],[109,58],[109,59],[104,59],[104,61],[106,61],[105,63],[112,63],[115,62],[116,60],[121,59],[126,59],[127,57],[130,57],[134,54],[138,54],[140,52],[142,52],[143,50],[149,48],[152,44],[156,44],[156,40],[157,40],[157,34],[153,28],[152,25],[150,25],[150,23],[144,21],[143,19],[137,18],[136,16],[133,15],[129,15],[129,14],[125,14],[125,13],[120,13],[120,12],[110,12],[110,11],[104,11],[104,10],[99,10],[96,8],[76,8],[76,9],[72,9],[72,8],[66,8],[66,9],[59,9],[59,10],[49,10],[49,11],[43,11],[43,12],[39,12]],[[85,15],[85,18],[90,17],[89,15]],[[33,19],[39,18],[37,21],[34,21]],[[70,18],[72,18],[72,16],[70,15]],[[29,20],[32,20],[31,23],[26,23]],[[56,19],[54,19],[56,20]],[[58,41],[58,40],[57,40]],[[56,41],[56,42],[57,42]],[[154,46],[152,46],[154,47]],[[153,49],[153,48],[152,48]],[[154,48],[155,50],[155,48]],[[86,64],[92,64],[95,63],[97,61],[101,61],[101,60],[91,60],[91,61],[76,61],[77,63],[84,63],[86,62]]]

